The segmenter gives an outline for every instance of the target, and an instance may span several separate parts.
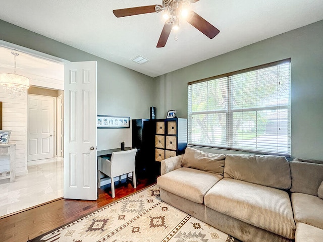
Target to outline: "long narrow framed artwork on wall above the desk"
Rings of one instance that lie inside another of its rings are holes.
[[[98,129],[127,129],[130,128],[130,117],[97,115],[96,127]]]

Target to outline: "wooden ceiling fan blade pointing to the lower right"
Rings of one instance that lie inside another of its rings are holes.
[[[191,18],[188,19],[187,22],[190,23],[193,27],[197,28],[210,39],[216,37],[220,33],[219,29],[211,25],[197,13],[192,11],[191,15]]]

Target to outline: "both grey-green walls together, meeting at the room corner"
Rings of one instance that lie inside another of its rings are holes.
[[[72,62],[97,61],[98,114],[131,118],[149,118],[149,106],[156,106],[157,118],[171,109],[187,117],[188,82],[291,57],[292,157],[323,160],[323,21],[154,79],[1,20],[0,30],[0,39],[7,42]],[[98,150],[118,147],[123,140],[131,146],[131,130],[98,130]]]

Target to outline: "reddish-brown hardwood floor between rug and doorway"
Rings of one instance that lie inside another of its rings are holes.
[[[116,182],[116,198],[111,197],[111,185],[105,185],[99,189],[96,201],[60,199],[0,219],[0,241],[26,242],[153,184],[148,179],[137,179],[137,183],[134,189],[126,179],[121,184]]]

